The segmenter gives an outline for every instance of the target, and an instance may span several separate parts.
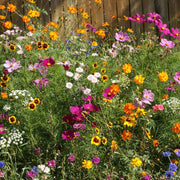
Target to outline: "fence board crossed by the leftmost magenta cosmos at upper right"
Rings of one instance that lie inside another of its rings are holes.
[[[136,13],[142,15],[142,3],[141,0],[130,0],[130,12],[131,16],[135,16]],[[137,33],[143,31],[143,24],[131,21],[131,27]]]

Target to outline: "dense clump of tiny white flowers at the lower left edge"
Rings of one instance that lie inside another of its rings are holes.
[[[1,137],[0,139],[0,149],[3,149],[5,147],[10,147],[11,145],[20,145],[23,143],[23,137],[22,135],[25,132],[20,132],[18,129],[13,128],[7,133],[6,137]]]

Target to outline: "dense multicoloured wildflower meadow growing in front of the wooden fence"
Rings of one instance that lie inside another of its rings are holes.
[[[121,19],[151,23],[141,34],[97,28],[69,7],[81,25],[63,35],[24,6],[0,4],[0,179],[180,179],[180,30],[156,12]]]

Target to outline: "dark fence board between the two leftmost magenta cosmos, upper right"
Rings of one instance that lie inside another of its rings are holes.
[[[143,14],[147,15],[147,13],[152,13],[155,12],[155,7],[154,7],[154,1],[152,0],[143,0]],[[155,27],[155,25],[152,23],[144,23],[144,30],[148,31],[150,30],[152,27]]]

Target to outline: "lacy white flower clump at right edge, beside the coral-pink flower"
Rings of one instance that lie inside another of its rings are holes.
[[[170,97],[163,101],[163,105],[168,106],[173,113],[180,113],[180,100],[175,97]]]

